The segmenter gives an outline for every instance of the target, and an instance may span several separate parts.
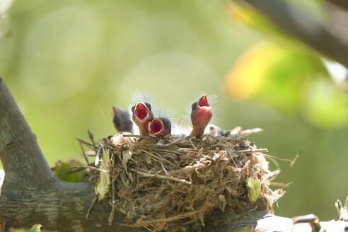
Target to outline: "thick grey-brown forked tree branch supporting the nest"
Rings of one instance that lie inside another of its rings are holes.
[[[137,231],[119,225],[122,215],[115,214],[108,226],[110,206],[97,202],[88,219],[86,213],[96,197],[89,183],[69,183],[57,179],[37,144],[35,134],[21,114],[15,100],[0,78],[0,231],[10,227],[29,228],[42,224],[54,231]],[[322,223],[330,231],[345,231],[343,221]],[[291,219],[266,211],[209,221],[202,231],[311,231],[308,224],[292,225]]]

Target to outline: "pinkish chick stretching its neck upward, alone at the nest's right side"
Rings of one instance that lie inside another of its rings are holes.
[[[207,95],[202,95],[197,102],[192,104],[191,122],[192,132],[190,136],[200,138],[204,134],[204,129],[211,120],[211,107],[208,103]]]

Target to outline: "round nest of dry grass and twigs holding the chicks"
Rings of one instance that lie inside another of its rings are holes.
[[[269,188],[279,170],[268,169],[262,153],[267,149],[257,149],[240,130],[202,139],[118,134],[97,149],[110,158],[100,167],[109,180],[110,224],[117,211],[124,214],[124,226],[201,231],[204,222],[221,221],[221,215],[272,211],[284,194]]]

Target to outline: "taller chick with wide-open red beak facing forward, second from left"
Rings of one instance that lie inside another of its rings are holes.
[[[139,102],[132,106],[132,119],[139,127],[140,135],[149,135],[149,122],[153,119],[151,105],[149,103]]]

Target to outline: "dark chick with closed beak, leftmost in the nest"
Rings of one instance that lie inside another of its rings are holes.
[[[112,122],[117,132],[133,133],[133,122],[127,110],[122,110],[114,105],[112,107]]]

